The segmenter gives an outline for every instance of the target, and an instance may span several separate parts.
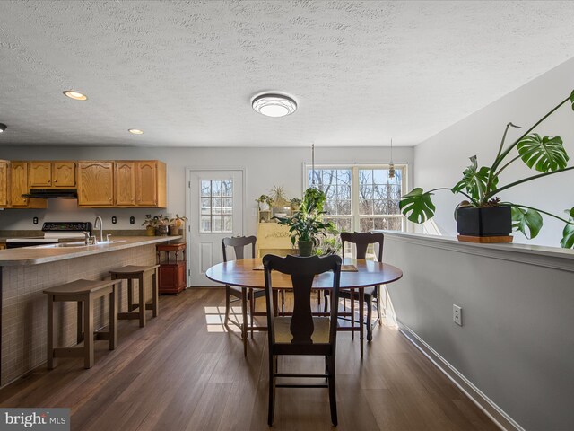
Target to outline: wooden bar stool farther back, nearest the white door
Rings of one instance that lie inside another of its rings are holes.
[[[117,319],[139,319],[140,328],[145,326],[145,311],[152,310],[152,316],[158,315],[158,268],[159,265],[149,267],[139,267],[128,265],[122,268],[116,268],[109,271],[112,280],[127,280],[127,312],[118,312]],[[143,277],[147,272],[153,271],[152,274],[152,303],[145,303]],[[132,280],[138,280],[139,300],[134,303],[134,292]],[[137,309],[137,312],[134,310]],[[119,308],[118,308],[119,311]]]

